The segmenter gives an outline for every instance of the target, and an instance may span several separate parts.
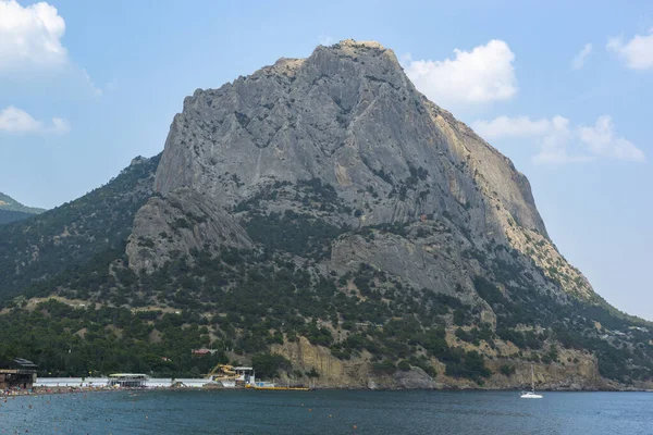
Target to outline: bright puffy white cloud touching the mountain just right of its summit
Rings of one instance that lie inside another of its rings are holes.
[[[471,51],[455,49],[455,59],[412,60],[406,55],[406,74],[435,103],[478,104],[507,100],[517,94],[515,54],[508,45],[493,39]]]

